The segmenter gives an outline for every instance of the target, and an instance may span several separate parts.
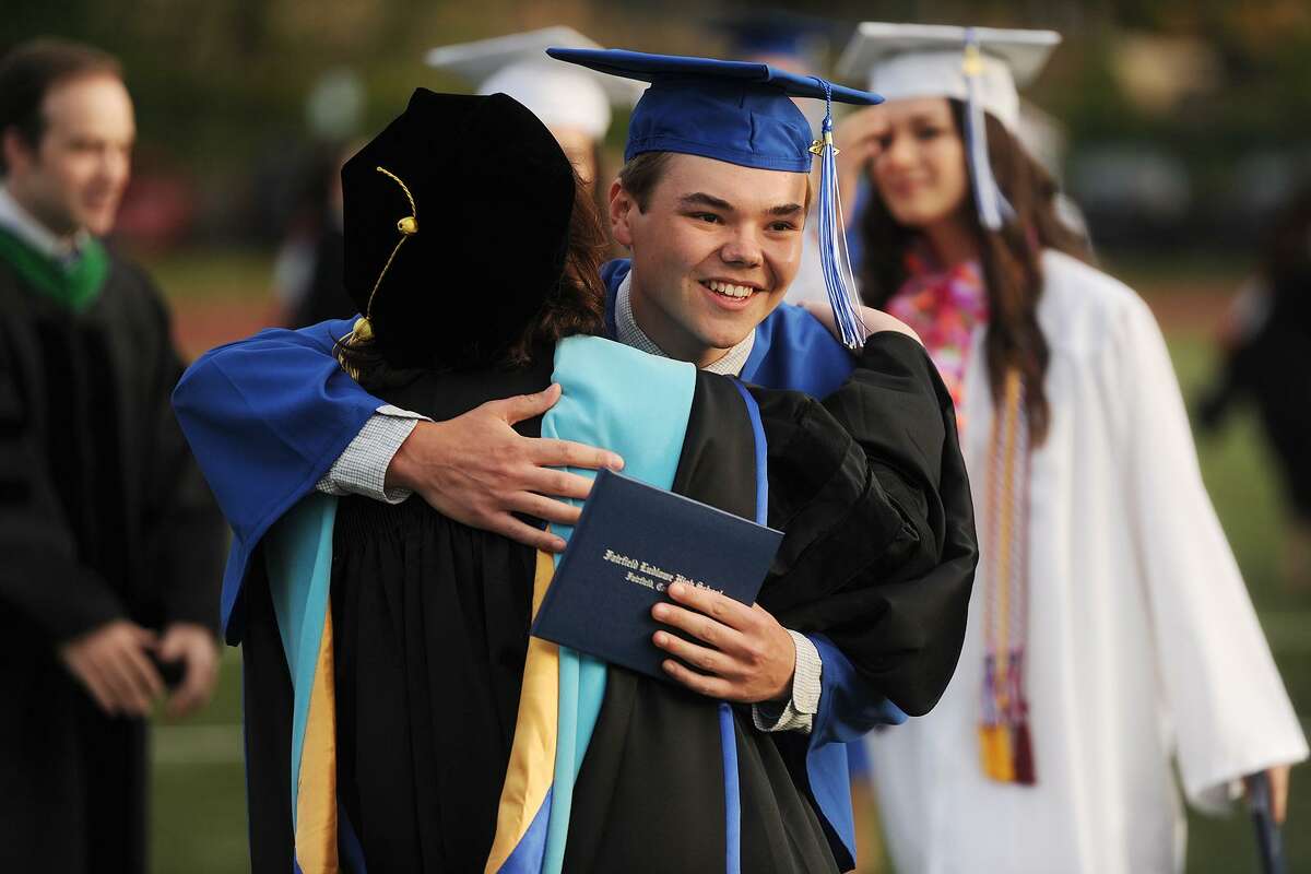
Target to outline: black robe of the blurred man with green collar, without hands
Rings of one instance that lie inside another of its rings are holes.
[[[0,870],[146,870],[146,723],[58,656],[128,618],[218,625],[223,520],[169,406],[182,364],[110,256],[71,313],[0,261]]]

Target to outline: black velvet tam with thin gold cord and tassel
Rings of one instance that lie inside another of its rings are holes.
[[[560,282],[573,168],[505,94],[416,89],[341,180],[346,290],[396,367],[490,363]]]

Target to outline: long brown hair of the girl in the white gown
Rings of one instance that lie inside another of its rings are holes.
[[[965,105],[949,101],[956,132],[964,140]],[[1015,218],[1000,231],[987,231],[979,223],[970,186],[966,220],[979,241],[979,261],[987,287],[988,329],[985,343],[988,383],[994,402],[1000,402],[1006,371],[1016,367],[1024,377],[1025,411],[1034,446],[1047,435],[1051,409],[1044,377],[1050,349],[1038,325],[1038,299],[1042,296],[1042,250],[1057,249],[1082,261],[1091,261],[1084,240],[1057,218],[1055,180],[1034,161],[1015,136],[995,118],[985,115],[988,162],[998,186],[1015,208]],[[966,166],[968,172],[968,166]],[[884,308],[907,279],[906,254],[919,238],[915,228],[899,224],[877,195],[860,220],[865,248],[861,266],[861,296]]]

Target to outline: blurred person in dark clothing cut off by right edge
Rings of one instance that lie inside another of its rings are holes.
[[[1256,404],[1291,511],[1285,582],[1311,592],[1311,186],[1280,211],[1260,273],[1226,318],[1223,371],[1200,421],[1219,427],[1234,402]]]

